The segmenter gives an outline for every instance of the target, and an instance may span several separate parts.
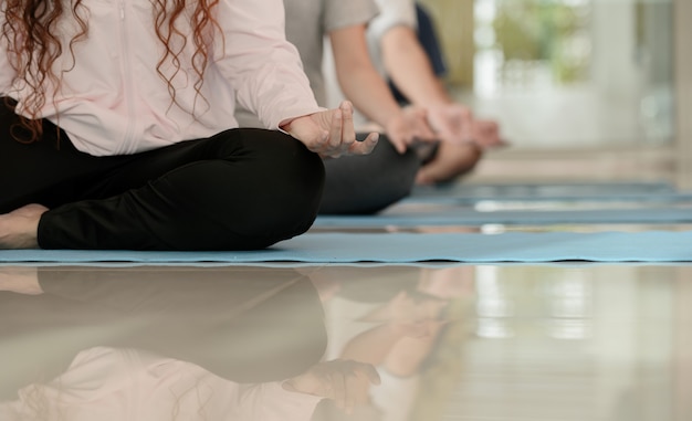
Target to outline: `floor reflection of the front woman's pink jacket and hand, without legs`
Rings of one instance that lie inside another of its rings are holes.
[[[371,366],[329,361],[283,381],[238,383],[187,361],[95,347],[81,351],[55,379],[0,402],[0,418],[307,421],[324,398],[352,411],[365,400],[367,386],[378,381]]]

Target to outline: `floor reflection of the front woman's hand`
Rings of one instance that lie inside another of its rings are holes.
[[[314,365],[306,372],[284,381],[286,390],[333,399],[337,408],[353,411],[368,402],[370,385],[379,385],[377,370],[369,365],[336,359]]]

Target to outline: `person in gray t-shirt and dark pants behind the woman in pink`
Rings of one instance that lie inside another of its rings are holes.
[[[421,166],[413,146],[436,141],[436,135],[424,110],[402,108],[373,65],[366,28],[378,7],[373,0],[284,0],[284,6],[286,38],[298,49],[317,103],[326,103],[322,64],[328,36],[342,90],[354,107],[384,131],[367,158],[324,160],[319,213],[380,211],[409,194]],[[235,116],[241,127],[260,125],[247,110],[240,109]]]

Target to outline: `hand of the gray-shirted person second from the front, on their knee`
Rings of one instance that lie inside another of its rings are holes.
[[[385,131],[399,154],[403,154],[413,141],[433,141],[438,138],[428,124],[426,109],[415,107],[407,107],[392,117]]]

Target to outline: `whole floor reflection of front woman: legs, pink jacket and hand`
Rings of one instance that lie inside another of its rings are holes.
[[[3,267],[0,356],[15,364],[3,369],[0,418],[308,420],[325,398],[363,403],[377,372],[321,360],[312,283],[293,270],[247,273]]]

